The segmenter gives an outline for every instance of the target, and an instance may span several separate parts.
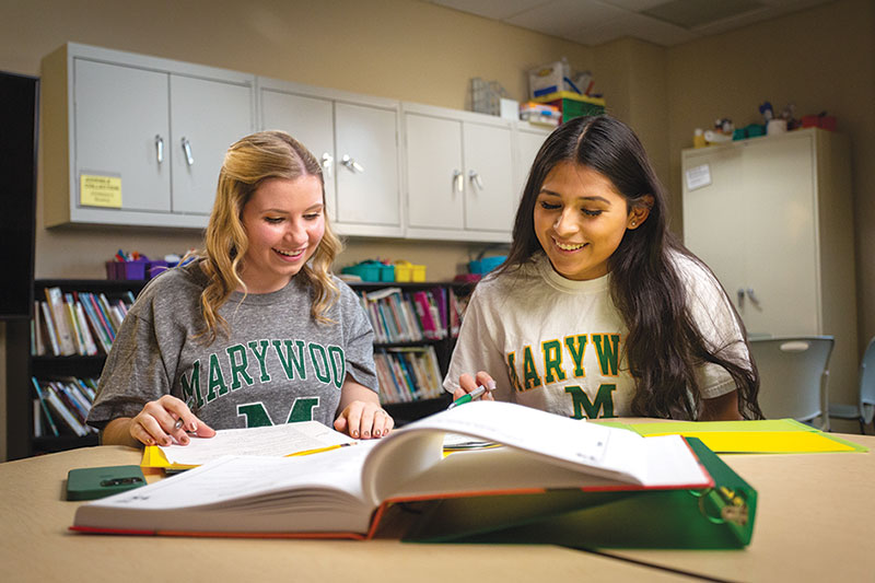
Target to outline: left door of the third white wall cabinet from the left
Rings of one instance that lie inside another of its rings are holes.
[[[462,230],[462,123],[408,113],[405,126],[408,224]]]

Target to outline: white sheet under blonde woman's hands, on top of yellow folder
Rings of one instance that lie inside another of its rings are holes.
[[[249,429],[221,429],[213,438],[190,439],[188,445],[161,446],[171,464],[198,466],[225,455],[277,456],[354,443],[355,440],[318,421]]]

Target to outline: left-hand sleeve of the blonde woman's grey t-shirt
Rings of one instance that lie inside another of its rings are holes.
[[[118,417],[135,417],[147,403],[170,392],[152,325],[131,310],[106,359],[88,423],[103,429]]]

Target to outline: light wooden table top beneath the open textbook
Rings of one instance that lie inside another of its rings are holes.
[[[842,435],[875,450],[875,436]],[[0,464],[4,581],[872,581],[875,453],[725,455],[759,492],[744,550],[612,550],[396,540],[222,539],[70,533],[67,471],[139,463],[85,447]]]

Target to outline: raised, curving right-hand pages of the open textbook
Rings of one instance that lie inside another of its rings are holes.
[[[625,429],[510,403],[474,401],[415,421],[382,440],[365,466],[365,493],[377,500],[390,498],[397,485],[420,477],[443,455],[445,433],[501,443],[552,465],[617,483],[643,487],[707,487],[711,483],[710,476],[679,436],[648,444],[645,438]],[[411,464],[409,458],[413,455],[417,458]],[[661,465],[668,469],[658,470]],[[527,487],[522,474],[517,481],[505,483],[504,489]]]

